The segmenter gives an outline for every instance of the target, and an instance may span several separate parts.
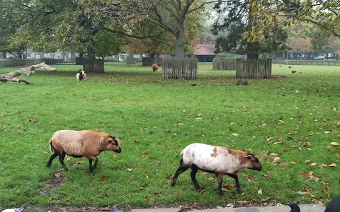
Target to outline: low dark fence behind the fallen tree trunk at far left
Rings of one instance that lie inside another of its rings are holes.
[[[0,67],[13,67],[13,66],[32,66],[35,64],[40,64],[45,61],[45,64],[52,65],[61,63],[62,59],[0,59]]]

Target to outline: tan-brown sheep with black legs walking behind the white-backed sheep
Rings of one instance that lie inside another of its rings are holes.
[[[115,151],[120,153],[119,140],[109,134],[91,130],[73,131],[60,130],[55,132],[50,139],[52,155],[48,160],[46,167],[50,167],[52,160],[59,156],[59,161],[67,171],[64,164],[65,155],[70,155],[74,158],[89,158],[90,172],[92,172],[98,163],[96,157],[102,151]],[[94,166],[92,166],[94,160]]]

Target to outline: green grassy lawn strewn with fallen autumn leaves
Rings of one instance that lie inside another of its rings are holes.
[[[33,85],[0,83],[0,208],[327,204],[339,194],[340,147],[331,143],[340,143],[340,66],[274,64],[273,75],[288,77],[249,86],[234,86],[234,71],[212,71],[212,64],[200,64],[196,81],[163,81],[162,69],[107,63],[106,73],[77,82],[81,66],[52,67],[21,76]],[[47,141],[60,129],[105,131],[120,138],[122,153],[101,153],[94,175],[87,158],[65,159],[68,172],[58,172],[57,158],[47,169]],[[251,151],[263,170],[239,172],[244,194],[226,186],[221,198],[215,175],[203,172],[204,190],[195,192],[190,171],[169,189],[181,150],[193,142]]]

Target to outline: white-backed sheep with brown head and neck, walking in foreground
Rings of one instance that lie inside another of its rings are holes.
[[[236,173],[243,169],[261,171],[259,159],[249,153],[232,150],[220,146],[210,146],[203,143],[192,143],[181,151],[181,162],[176,170],[171,187],[176,184],[179,175],[191,168],[191,180],[195,189],[200,189],[196,180],[198,170],[215,173],[218,181],[218,194],[222,193],[222,177],[229,175],[235,179],[237,192],[240,192],[239,178]]]

